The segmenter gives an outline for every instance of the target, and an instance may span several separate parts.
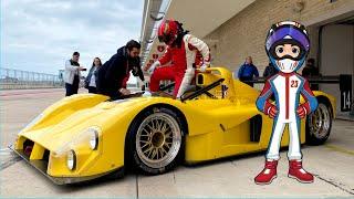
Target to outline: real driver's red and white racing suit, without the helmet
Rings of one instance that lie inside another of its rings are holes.
[[[198,51],[204,57],[204,65],[209,65],[210,51],[208,45],[191,34],[184,35],[180,48],[167,45],[165,54],[158,61],[160,65],[171,63],[154,71],[149,90],[157,92],[162,80],[175,81],[174,96],[179,98],[195,77],[194,63]]]

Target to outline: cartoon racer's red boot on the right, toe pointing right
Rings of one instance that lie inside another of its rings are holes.
[[[298,181],[302,182],[302,184],[312,184],[313,182],[313,176],[312,174],[305,171],[302,168],[302,160],[299,159],[293,159],[293,160],[289,160],[289,174],[288,174],[289,178],[294,178]]]

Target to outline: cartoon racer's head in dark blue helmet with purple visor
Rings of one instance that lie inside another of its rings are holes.
[[[266,51],[279,71],[283,73],[298,71],[310,51],[305,27],[294,21],[273,24],[266,39]]]

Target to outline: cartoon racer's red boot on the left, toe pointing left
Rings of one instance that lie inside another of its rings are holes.
[[[264,169],[254,178],[257,185],[269,185],[277,178],[278,160],[266,160]]]

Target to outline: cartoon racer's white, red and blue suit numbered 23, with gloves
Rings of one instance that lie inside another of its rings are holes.
[[[274,94],[275,107],[278,114],[274,117],[272,136],[266,155],[267,159],[280,158],[279,148],[285,125],[289,128],[289,151],[288,158],[301,159],[300,149],[300,116],[296,109],[303,108],[305,115],[310,114],[317,107],[317,100],[310,90],[309,82],[298,73],[282,73],[271,76],[267,80],[263,91],[257,100],[257,108],[266,115],[270,114],[274,105],[268,100]],[[300,94],[305,100],[304,104],[299,105]]]

